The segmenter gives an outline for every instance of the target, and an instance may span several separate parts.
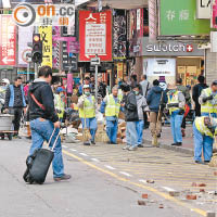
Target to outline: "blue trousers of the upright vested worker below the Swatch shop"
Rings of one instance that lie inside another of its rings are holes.
[[[179,115],[178,113],[171,113],[170,125],[175,143],[182,142],[182,133],[181,133],[182,119],[183,115]]]

